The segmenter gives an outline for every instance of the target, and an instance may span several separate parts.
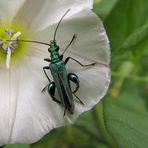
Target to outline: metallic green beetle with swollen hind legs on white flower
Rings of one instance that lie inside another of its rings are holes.
[[[75,36],[73,36],[73,39]],[[52,99],[62,104],[64,107],[64,115],[66,113],[66,110],[68,110],[71,114],[74,112],[74,99],[73,94],[77,92],[79,88],[79,78],[74,73],[67,74],[65,64],[68,62],[68,60],[71,57],[66,58],[65,61],[62,60],[63,54],[59,55],[59,46],[57,46],[56,41],[51,41],[50,48],[48,49],[50,52],[51,59],[44,59],[45,61],[50,62],[49,66],[43,67],[44,73],[49,80],[48,85],[48,93],[52,97]],[[71,58],[72,59],[72,58]],[[48,77],[45,70],[50,69],[52,77],[54,79],[53,82],[51,82],[50,78]],[[70,82],[72,81],[76,84],[76,89],[72,92],[70,87]],[[59,100],[55,98],[55,88],[57,88],[57,92],[59,95]],[[43,89],[44,91],[44,89]],[[76,96],[76,95],[75,95]],[[78,98],[78,97],[77,97]],[[83,102],[78,98],[81,104]]]

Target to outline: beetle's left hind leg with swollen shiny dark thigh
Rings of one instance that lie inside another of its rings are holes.
[[[49,95],[51,96],[52,100],[57,102],[57,103],[60,103],[61,104],[61,101],[59,101],[57,98],[55,98],[54,94],[55,94],[55,83],[54,82],[51,82],[49,85],[48,85],[48,93]]]

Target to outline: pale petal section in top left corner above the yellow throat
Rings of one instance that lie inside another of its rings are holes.
[[[0,20],[7,19],[7,23],[11,21],[18,9],[23,5],[25,0],[1,0],[0,1]]]

